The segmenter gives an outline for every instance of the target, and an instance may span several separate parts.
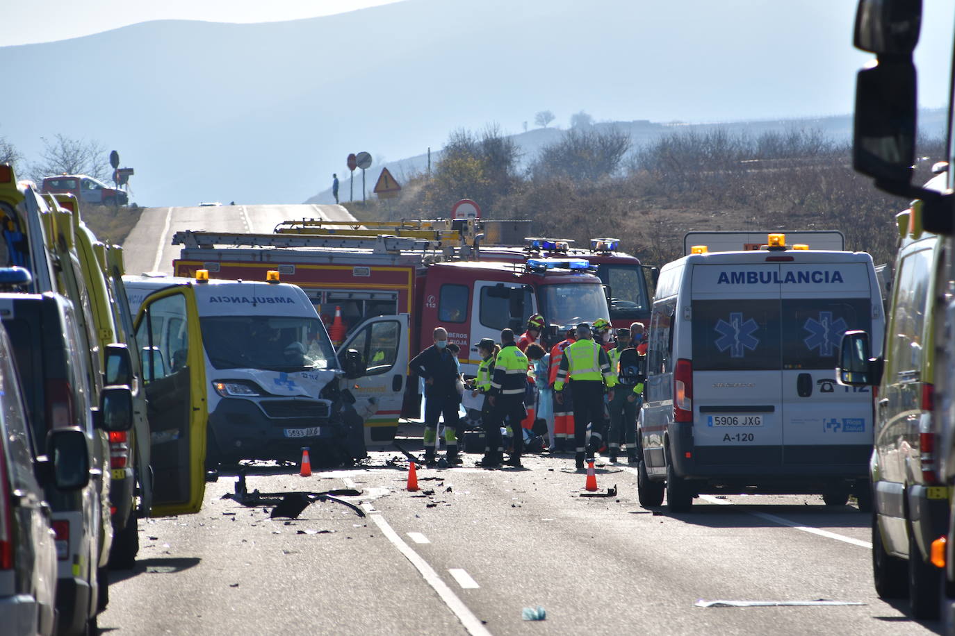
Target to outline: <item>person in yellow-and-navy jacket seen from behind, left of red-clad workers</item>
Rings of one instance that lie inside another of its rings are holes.
[[[504,462],[515,468],[521,468],[520,453],[524,445],[524,432],[520,421],[527,417],[524,409],[524,392],[527,388],[527,357],[514,341],[514,332],[504,329],[500,332],[500,353],[494,364],[491,377],[491,390],[488,395],[491,402],[492,425],[500,427],[505,421],[514,431],[514,449],[510,458]],[[500,428],[498,428],[500,430]]]

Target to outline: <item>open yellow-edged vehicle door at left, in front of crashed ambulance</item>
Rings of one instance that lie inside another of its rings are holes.
[[[147,297],[137,316],[136,339],[152,431],[150,515],[199,512],[208,410],[202,332],[191,290],[174,286]]]

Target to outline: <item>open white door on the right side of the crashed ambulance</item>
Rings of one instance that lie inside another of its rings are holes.
[[[354,396],[354,408],[365,424],[365,445],[384,446],[394,441],[398,417],[408,383],[408,314],[376,316],[359,324],[339,349],[354,349],[365,362],[365,375],[345,379],[343,388]]]

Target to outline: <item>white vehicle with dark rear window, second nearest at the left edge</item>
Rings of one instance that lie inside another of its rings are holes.
[[[107,386],[98,393],[91,386],[86,371],[90,357],[81,350],[75,314],[73,304],[58,294],[0,294],[0,315],[13,343],[34,438],[76,426],[90,446],[94,477],[85,487],[47,488],[59,563],[56,610],[61,634],[95,628],[96,615],[109,598],[106,564],[113,533],[108,436],[128,431],[133,417],[129,387],[109,386],[127,378],[106,378]],[[106,368],[123,367],[129,368],[128,352],[110,349]]]

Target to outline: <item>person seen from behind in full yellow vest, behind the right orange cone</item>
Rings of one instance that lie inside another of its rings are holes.
[[[563,385],[570,383],[574,398],[574,462],[577,470],[584,470],[584,454],[593,459],[597,449],[604,443],[604,391],[609,390],[613,400],[613,387],[617,377],[610,372],[610,359],[604,347],[594,342],[590,325],[577,325],[577,341],[563,350],[561,366],[557,372],[554,390],[558,401],[563,400]],[[590,424],[590,443],[586,443],[587,424]]]

